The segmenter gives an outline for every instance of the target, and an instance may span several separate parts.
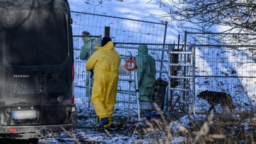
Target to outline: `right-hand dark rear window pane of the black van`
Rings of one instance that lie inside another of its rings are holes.
[[[38,11],[38,65],[60,65],[68,56],[67,15]]]

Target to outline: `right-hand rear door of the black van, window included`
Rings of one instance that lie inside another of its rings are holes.
[[[37,15],[42,115],[47,113],[41,123],[49,124],[51,120],[52,124],[60,124],[67,116],[65,104],[72,101],[72,47],[68,47],[67,13],[38,10]]]

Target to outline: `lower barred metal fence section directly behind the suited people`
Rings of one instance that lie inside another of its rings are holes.
[[[119,44],[116,43],[115,50],[121,56],[121,67],[124,67],[125,61],[132,59],[136,60],[136,55],[138,54],[138,46],[140,44]],[[163,49],[163,45],[150,45],[148,46],[148,54],[150,54],[156,60],[157,74],[156,77],[159,77],[159,74],[162,73],[162,79],[168,82],[168,56],[165,56],[164,59],[161,59],[161,52],[167,52],[168,47]],[[75,97],[77,107],[86,105],[86,108],[90,106],[90,96],[86,96],[86,62],[79,60],[80,49],[75,49]],[[161,63],[164,63],[162,67],[163,70],[159,70]],[[135,83],[135,72],[134,70],[129,71],[129,75],[120,74],[118,80],[118,92],[116,97],[115,111],[120,112],[118,115],[131,116],[137,113],[137,99],[136,92],[134,88]],[[157,79],[157,78],[156,78]],[[87,79],[88,80],[88,79]],[[118,110],[116,110],[118,109]]]

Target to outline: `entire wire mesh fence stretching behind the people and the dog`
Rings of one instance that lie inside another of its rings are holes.
[[[125,61],[131,57],[136,59],[140,44],[148,45],[148,54],[156,60],[156,79],[161,77],[169,83],[169,86],[174,83],[170,80],[170,57],[168,56],[170,49],[180,49],[179,51],[190,49],[194,52],[193,58],[187,57],[186,54],[177,54],[178,58],[175,62],[177,65],[180,65],[179,63],[182,65],[193,64],[189,68],[185,68],[187,66],[181,67],[174,76],[177,77],[176,82],[178,84],[175,88],[183,84],[189,90],[182,92],[173,89],[172,97],[167,97],[168,100],[180,97],[179,102],[177,102],[180,109],[184,109],[182,106],[188,106],[188,111],[195,110],[196,113],[208,111],[211,104],[207,100],[196,97],[200,92],[206,90],[228,93],[236,107],[235,110],[252,109],[255,105],[256,45],[253,45],[252,41],[248,41],[249,38],[253,39],[254,35],[185,32],[184,45],[180,48],[181,44],[164,44],[166,24],[79,12],[72,12],[72,17],[74,20],[74,61],[76,68],[75,95],[78,107],[88,108],[90,104],[89,97],[85,95],[86,61],[79,59],[83,45],[81,33],[84,30],[90,31],[94,38],[100,40],[104,34],[105,26],[111,27],[111,38],[115,42],[115,50],[122,58],[121,65],[124,65]],[[145,30],[141,30],[142,28]],[[152,31],[158,32],[153,33]],[[234,37],[244,38],[246,42],[235,42],[232,39]],[[184,72],[185,70],[186,72]],[[115,113],[118,115],[129,116],[137,113],[134,72],[132,71],[130,74],[130,76],[120,75],[119,77],[115,106]],[[193,77],[193,79],[188,81],[183,79],[184,74]],[[186,99],[188,95],[189,99]],[[182,102],[186,104],[182,105]],[[215,102],[215,105],[218,109],[217,112],[223,110],[220,101]]]

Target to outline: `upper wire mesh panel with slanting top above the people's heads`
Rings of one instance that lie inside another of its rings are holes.
[[[82,12],[71,12],[71,17],[73,35],[81,35],[83,31],[92,35],[104,35],[104,28],[110,27],[113,42],[163,44],[166,37],[166,22],[148,22]]]

